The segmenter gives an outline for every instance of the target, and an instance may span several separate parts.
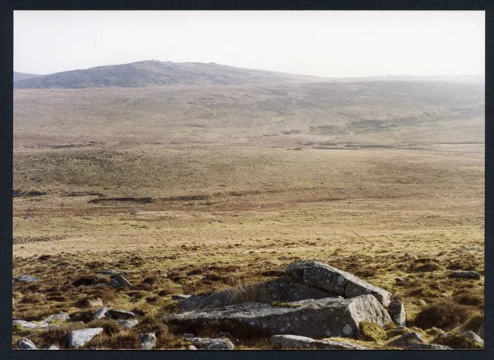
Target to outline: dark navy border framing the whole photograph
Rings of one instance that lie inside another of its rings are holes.
[[[286,0],[286,1],[159,1],[140,0],[2,0],[0,11],[0,92],[1,92],[1,171],[0,171],[0,359],[206,359],[218,357],[234,359],[295,360],[310,357],[315,360],[328,357],[345,359],[494,359],[493,352],[493,281],[485,281],[485,348],[482,351],[350,351],[350,350],[237,350],[237,351],[183,351],[183,350],[99,350],[85,351],[18,351],[11,349],[12,313],[7,294],[12,292],[12,163],[13,163],[13,10],[485,10],[486,11],[486,172],[485,172],[485,278],[493,277],[494,180],[493,160],[493,35],[492,1],[391,1],[391,0]],[[490,61],[489,61],[490,60]],[[338,352],[338,353],[335,353]]]

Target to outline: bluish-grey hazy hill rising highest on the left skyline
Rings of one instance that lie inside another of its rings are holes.
[[[232,85],[327,81],[324,78],[215,63],[172,63],[155,60],[65,71],[18,81],[17,88],[156,87],[168,84]]]

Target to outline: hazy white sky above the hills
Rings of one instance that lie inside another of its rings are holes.
[[[14,70],[141,60],[324,77],[484,74],[484,11],[14,11]]]

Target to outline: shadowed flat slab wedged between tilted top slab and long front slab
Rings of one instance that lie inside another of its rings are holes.
[[[247,286],[239,286],[225,291],[214,291],[205,294],[178,299],[183,310],[215,308],[250,301],[271,303],[272,301],[291,302],[305,299],[324,299],[337,295],[328,290],[320,289],[290,277],[260,282]],[[173,299],[173,298],[172,298]],[[247,300],[248,301],[248,300]]]

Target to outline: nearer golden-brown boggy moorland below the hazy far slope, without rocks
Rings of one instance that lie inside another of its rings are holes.
[[[65,311],[71,320],[15,327],[13,347],[25,336],[66,348],[71,329],[101,326],[85,347],[138,348],[137,333],[156,331],[157,348],[181,348],[180,334],[160,320],[179,311],[172,294],[267,280],[299,259],[386,288],[424,340],[434,338],[431,326],[476,331],[482,319],[484,278],[447,277],[483,275],[480,145],[23,151],[14,154],[14,189],[14,276],[41,281],[13,284],[13,316]],[[86,286],[108,280],[97,274],[107,269],[127,271],[133,286]],[[102,304],[136,311],[139,325],[77,322]],[[349,341],[386,348],[395,335]],[[238,346],[269,347],[267,339]]]

